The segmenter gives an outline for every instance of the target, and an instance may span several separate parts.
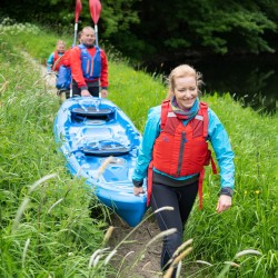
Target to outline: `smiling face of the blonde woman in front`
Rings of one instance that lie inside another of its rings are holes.
[[[198,97],[196,78],[192,76],[176,78],[173,96],[180,109],[190,109]]]

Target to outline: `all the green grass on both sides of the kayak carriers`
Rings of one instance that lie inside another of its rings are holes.
[[[0,26],[0,274],[113,277],[107,256],[117,254],[103,246],[109,214],[83,180],[67,173],[52,135],[59,100],[20,52],[42,61],[56,40],[34,26]],[[166,96],[163,78],[132,70],[117,52],[108,56],[109,99],[142,131],[148,109]],[[242,109],[229,95],[203,100],[230,136],[236,190],[232,208],[217,215],[219,177],[207,169],[205,208],[196,205],[185,234],[193,239],[186,275],[277,277],[277,116]],[[102,211],[98,218],[91,207]]]

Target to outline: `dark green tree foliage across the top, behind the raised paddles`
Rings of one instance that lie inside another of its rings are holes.
[[[79,26],[92,24],[88,0]],[[277,51],[276,0],[102,0],[99,38],[137,60]],[[0,16],[73,32],[73,0],[3,0]]]

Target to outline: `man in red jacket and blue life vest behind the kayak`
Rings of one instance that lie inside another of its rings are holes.
[[[81,31],[80,44],[70,50],[72,95],[101,97],[108,95],[108,62],[102,49],[95,46],[96,34],[92,27]]]

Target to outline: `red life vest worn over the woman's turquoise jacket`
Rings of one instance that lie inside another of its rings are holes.
[[[161,132],[157,138],[152,161],[148,171],[148,201],[151,195],[152,167],[175,178],[199,173],[199,199],[202,206],[203,166],[211,161],[216,173],[216,166],[208,149],[208,106],[200,102],[196,117],[183,126],[182,119],[172,111],[170,100],[161,106]]]

